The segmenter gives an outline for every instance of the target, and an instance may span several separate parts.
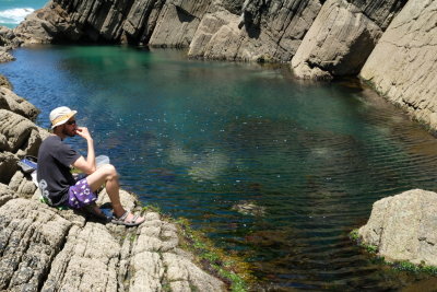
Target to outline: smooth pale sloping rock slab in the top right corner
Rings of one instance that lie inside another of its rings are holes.
[[[409,1],[359,77],[416,119],[437,129],[437,2]]]

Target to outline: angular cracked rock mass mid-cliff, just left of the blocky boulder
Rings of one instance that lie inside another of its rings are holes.
[[[202,19],[189,56],[287,62],[320,8],[318,0],[246,1],[237,16],[215,7]]]

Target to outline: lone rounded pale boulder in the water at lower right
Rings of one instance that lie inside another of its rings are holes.
[[[388,261],[437,266],[437,194],[413,189],[374,203],[358,234]]]

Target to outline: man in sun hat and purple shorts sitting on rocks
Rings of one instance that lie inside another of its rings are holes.
[[[96,214],[104,215],[95,201],[96,190],[105,184],[114,209],[111,222],[127,226],[141,224],[144,218],[133,215],[121,206],[116,168],[110,164],[96,168],[93,138],[87,128],[76,126],[76,113],[67,106],[55,108],[50,113],[54,135],[43,141],[38,152],[37,179],[43,197],[50,206],[92,208]],[[75,135],[86,140],[86,159],[62,142],[67,137]],[[75,182],[71,166],[87,176]]]

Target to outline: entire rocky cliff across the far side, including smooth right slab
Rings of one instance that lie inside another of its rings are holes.
[[[15,38],[8,36],[15,44],[185,47],[192,58],[286,62],[302,79],[359,75],[436,129],[436,5],[433,0],[51,0],[14,30]]]

